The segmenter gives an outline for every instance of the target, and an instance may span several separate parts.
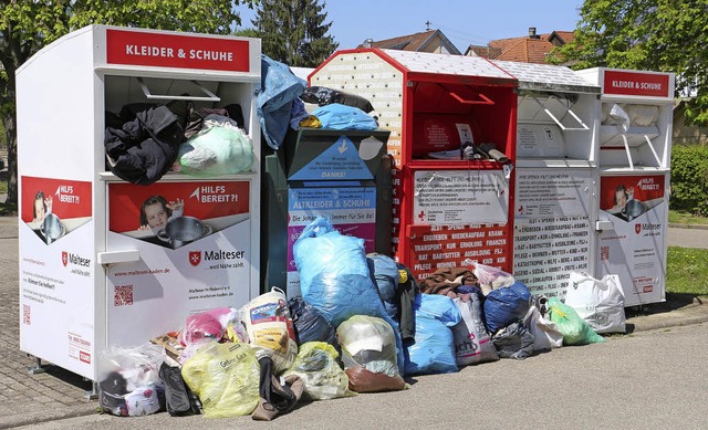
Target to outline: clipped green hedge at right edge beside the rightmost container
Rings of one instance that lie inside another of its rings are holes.
[[[674,146],[670,208],[708,216],[708,148]]]

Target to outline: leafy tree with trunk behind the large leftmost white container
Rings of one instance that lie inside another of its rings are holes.
[[[8,145],[8,200],[17,204],[14,72],[42,46],[87,24],[228,34],[240,25],[237,8],[258,0],[0,0],[0,116]]]

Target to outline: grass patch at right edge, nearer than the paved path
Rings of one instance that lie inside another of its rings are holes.
[[[666,291],[708,296],[708,250],[668,247]]]

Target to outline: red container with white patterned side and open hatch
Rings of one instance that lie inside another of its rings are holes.
[[[391,130],[392,241],[418,277],[466,260],[511,271],[517,80],[480,57],[335,52],[310,85],[367,98]]]

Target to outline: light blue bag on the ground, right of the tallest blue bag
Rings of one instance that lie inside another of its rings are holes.
[[[405,375],[449,374],[458,370],[450,327],[462,316],[451,298],[437,294],[418,294],[415,342],[406,345]]]

